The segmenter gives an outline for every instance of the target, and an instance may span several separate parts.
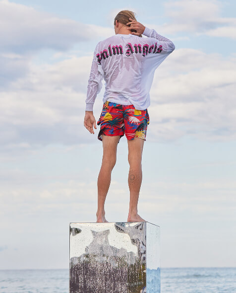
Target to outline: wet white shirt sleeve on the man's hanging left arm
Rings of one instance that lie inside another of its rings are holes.
[[[90,76],[88,79],[87,98],[85,100],[86,102],[85,111],[93,111],[93,104],[95,102],[97,94],[100,93],[103,87],[102,80],[103,80],[104,73],[103,73],[101,64],[98,64],[97,62],[98,58],[96,55],[98,53],[99,52],[98,52],[98,45],[97,45],[94,50]]]

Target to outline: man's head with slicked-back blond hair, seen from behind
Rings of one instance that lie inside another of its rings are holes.
[[[130,10],[121,10],[117,14],[117,16],[114,19],[114,29],[116,34],[130,34],[131,32],[136,32],[135,29],[127,29],[127,27],[130,26],[126,25],[126,23],[130,22],[131,20],[129,18],[132,18],[137,21],[135,18],[135,13]],[[139,37],[142,37],[142,35],[139,35]]]

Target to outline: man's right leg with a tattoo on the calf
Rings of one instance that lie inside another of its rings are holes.
[[[142,151],[144,140],[135,137],[128,142],[128,186],[130,192],[128,222],[145,221],[138,215],[138,197],[142,183]]]

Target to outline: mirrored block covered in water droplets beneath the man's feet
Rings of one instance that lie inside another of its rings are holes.
[[[159,245],[148,222],[70,223],[70,293],[160,293]]]

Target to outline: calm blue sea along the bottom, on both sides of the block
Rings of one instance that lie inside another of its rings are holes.
[[[0,270],[0,293],[68,293],[69,270]],[[236,293],[236,268],[161,268],[161,293]]]

